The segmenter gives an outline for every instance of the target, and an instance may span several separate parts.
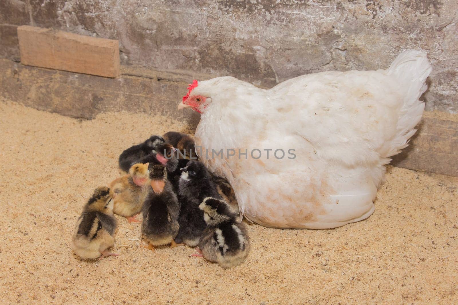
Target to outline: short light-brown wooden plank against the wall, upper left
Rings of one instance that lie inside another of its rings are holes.
[[[21,62],[106,77],[120,75],[119,41],[41,27],[17,28]]]

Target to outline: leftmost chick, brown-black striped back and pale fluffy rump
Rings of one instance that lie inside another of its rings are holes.
[[[83,207],[71,240],[71,248],[83,259],[95,259],[102,255],[117,256],[107,251],[114,245],[116,218],[113,216],[113,198],[109,188],[97,188]]]

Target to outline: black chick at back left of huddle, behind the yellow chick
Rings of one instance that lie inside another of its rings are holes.
[[[160,145],[164,143],[164,138],[160,136],[151,136],[145,142],[127,148],[119,156],[120,171],[126,174],[133,164],[148,162],[141,162],[141,160],[151,153],[156,154]]]

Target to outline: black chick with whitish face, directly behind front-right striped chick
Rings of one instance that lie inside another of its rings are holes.
[[[179,184],[181,209],[178,219],[180,232],[175,242],[184,242],[194,247],[199,243],[199,238],[207,227],[199,204],[206,197],[222,198],[218,194],[212,176],[202,163],[191,160],[181,168],[181,171]]]

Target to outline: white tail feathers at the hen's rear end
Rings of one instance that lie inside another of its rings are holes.
[[[390,67],[387,75],[393,76],[402,93],[402,108],[399,114],[396,134],[388,140],[380,152],[382,158],[389,158],[407,147],[409,138],[415,133],[415,125],[421,119],[425,103],[419,101],[426,89],[426,78],[431,73],[431,65],[425,52],[404,51],[399,54]]]

